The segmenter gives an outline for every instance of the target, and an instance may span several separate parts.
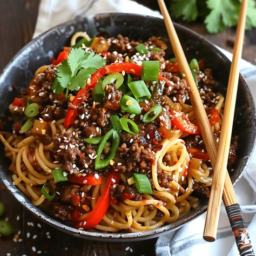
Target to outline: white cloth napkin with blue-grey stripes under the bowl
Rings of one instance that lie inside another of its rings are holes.
[[[34,37],[44,31],[78,16],[87,16],[103,12],[130,12],[161,17],[159,12],[152,11],[145,6],[130,0],[41,0]],[[232,54],[223,49],[228,58]],[[241,73],[253,93],[256,101],[256,66],[242,60]],[[254,150],[250,164],[244,176],[235,186],[238,201],[241,203],[245,222],[256,246],[256,150]],[[233,256],[239,255],[234,243],[233,233],[228,221],[225,208],[221,208],[217,241],[209,243],[202,238],[205,214],[191,221],[178,231],[159,237],[156,244],[158,256]],[[254,248],[255,249],[255,248]]]

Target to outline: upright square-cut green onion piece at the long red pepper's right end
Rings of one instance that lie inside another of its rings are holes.
[[[159,60],[144,60],[142,62],[142,79],[158,80],[159,70]]]

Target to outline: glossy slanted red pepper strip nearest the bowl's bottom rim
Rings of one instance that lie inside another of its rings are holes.
[[[110,190],[114,184],[119,183],[120,176],[116,172],[111,172],[107,178],[106,185],[104,187],[102,196],[99,197],[95,207],[92,211],[84,218],[76,228],[89,229],[97,226],[106,214],[107,208],[109,208],[111,199],[110,199]]]

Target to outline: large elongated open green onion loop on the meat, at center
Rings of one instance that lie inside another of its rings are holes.
[[[109,156],[107,156],[105,159],[102,159],[102,151],[104,150],[104,147],[107,143],[107,140],[110,138],[112,139],[112,147],[110,149]],[[100,142],[98,149],[97,149],[97,157],[95,159],[95,170],[103,169],[104,167],[108,166],[110,163],[110,160],[114,159],[114,156],[116,156],[116,152],[119,146],[120,142],[120,136],[117,130],[111,129],[109,130],[105,136],[102,139],[102,142]]]

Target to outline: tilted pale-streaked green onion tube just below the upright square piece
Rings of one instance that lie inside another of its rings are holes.
[[[151,93],[143,80],[133,81],[128,86],[138,102],[151,98]]]

